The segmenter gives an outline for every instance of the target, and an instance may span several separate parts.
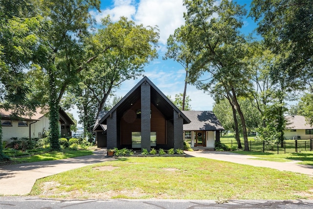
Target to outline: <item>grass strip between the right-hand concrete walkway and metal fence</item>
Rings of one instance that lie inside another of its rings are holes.
[[[286,153],[286,154],[272,154],[267,152],[251,152],[251,151],[232,151],[232,152],[261,158],[257,160],[271,159],[271,161],[281,162],[279,159],[285,159],[289,161],[292,160],[301,161],[298,164],[313,165],[313,151]]]

